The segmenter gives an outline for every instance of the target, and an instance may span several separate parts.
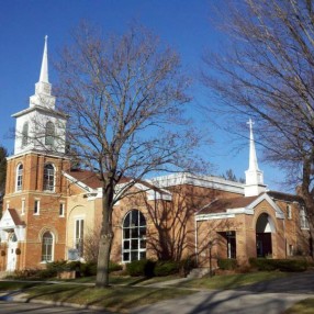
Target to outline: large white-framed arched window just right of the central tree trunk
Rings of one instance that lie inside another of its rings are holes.
[[[146,258],[146,220],[133,210],[126,214],[122,227],[122,260],[124,262]]]

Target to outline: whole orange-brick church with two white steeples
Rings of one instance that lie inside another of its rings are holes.
[[[71,167],[65,146],[67,116],[55,102],[45,38],[35,93],[29,108],[12,115],[15,142],[14,154],[8,157],[0,221],[0,271],[88,260],[88,246],[99,234],[101,182],[97,173]],[[267,189],[251,121],[249,132],[245,183],[186,172],[136,183],[136,193],[114,208],[111,259],[126,263],[192,256],[206,267],[210,257],[216,265],[218,258],[247,263],[249,257],[309,255],[303,201]]]

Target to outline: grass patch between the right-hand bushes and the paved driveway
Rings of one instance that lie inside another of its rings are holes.
[[[204,277],[201,279],[192,279],[190,281],[180,282],[180,288],[194,288],[194,289],[217,289],[227,290],[236,289],[238,287],[272,280],[277,278],[288,277],[287,272],[248,272],[248,273],[235,273],[235,274],[220,274],[214,277]]]

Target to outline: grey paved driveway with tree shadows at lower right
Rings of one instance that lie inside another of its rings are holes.
[[[188,298],[137,307],[132,313],[279,314],[306,298],[314,298],[314,272],[298,273],[237,290],[201,291]]]

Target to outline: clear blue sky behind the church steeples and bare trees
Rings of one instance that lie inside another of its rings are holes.
[[[49,82],[54,86],[56,74],[52,60],[82,20],[100,25],[105,32],[123,33],[133,21],[150,29],[181,55],[183,66],[194,78],[192,102],[195,108],[210,104],[213,100],[198,82],[201,57],[204,49],[217,51],[223,35],[210,23],[214,13],[209,1],[0,0],[0,144],[13,154],[10,134],[15,121],[11,115],[29,106],[29,98],[40,78],[45,35],[48,35]],[[223,0],[218,1],[223,5]],[[235,134],[211,125],[213,116],[209,119],[198,111],[193,116],[200,128],[209,128],[213,142],[201,150],[213,164],[212,173],[222,175],[233,169],[237,177],[245,178],[248,139],[236,138]],[[260,150],[257,145],[265,183],[270,189],[282,190],[280,169],[263,162]]]

